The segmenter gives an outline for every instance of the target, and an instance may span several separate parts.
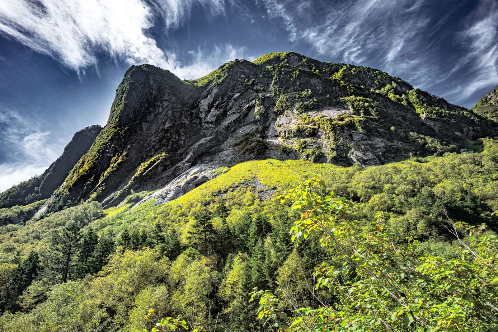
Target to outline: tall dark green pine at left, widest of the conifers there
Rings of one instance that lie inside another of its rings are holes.
[[[80,239],[80,225],[75,221],[68,221],[65,226],[51,233],[47,254],[48,268],[62,282],[68,281],[74,273]]]

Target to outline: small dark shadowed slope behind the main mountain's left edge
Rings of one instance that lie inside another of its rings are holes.
[[[88,126],[73,135],[62,155],[43,174],[23,181],[0,194],[0,208],[26,205],[47,199],[63,182],[76,162],[92,146],[102,130],[100,125]]]

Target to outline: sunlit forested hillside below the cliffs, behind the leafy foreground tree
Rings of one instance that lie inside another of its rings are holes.
[[[33,253],[40,257],[38,277],[23,286],[24,292],[1,288],[8,295],[2,296],[2,307],[23,312],[1,316],[0,328],[132,331],[181,315],[199,331],[209,331],[215,319],[218,331],[263,331],[257,306],[248,302],[252,287],[274,291],[282,310],[310,305],[313,296],[305,285],[313,279],[306,276],[322,259],[330,262],[317,238],[290,240],[289,227],[298,213],[277,198],[313,173],[323,174],[327,183],[318,193],[333,190],[355,202],[351,216],[361,224],[383,211],[398,241],[417,236],[423,241],[420,249],[455,258],[460,247],[451,241],[446,214],[472,224],[486,222],[493,229],[498,225],[493,214],[498,209],[498,143],[483,143],[483,152],[411,158],[367,169],[301,160],[247,161],[219,169],[218,177],[167,204],[149,201],[133,208],[147,194],[137,193],[116,208],[102,210],[92,202],[26,225],[0,227],[4,272],[9,266],[15,272],[19,260],[26,266]],[[203,228],[202,220],[210,226]],[[81,244],[68,281],[60,283],[60,270],[52,265],[53,236],[67,232],[73,222],[82,227],[75,235]],[[199,236],[202,229],[207,242]],[[331,259],[338,266],[343,262]],[[302,298],[294,298],[292,289]],[[316,295],[333,302],[327,294]],[[18,302],[8,302],[16,296]],[[150,320],[144,320],[147,315]]]

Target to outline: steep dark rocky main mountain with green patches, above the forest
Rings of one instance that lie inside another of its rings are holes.
[[[287,52],[235,60],[197,80],[132,66],[106,127],[47,203],[118,204],[131,192],[175,199],[224,164],[306,159],[379,165],[459,152],[496,124],[366,67]]]

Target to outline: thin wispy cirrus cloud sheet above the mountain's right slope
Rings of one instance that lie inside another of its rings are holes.
[[[387,71],[455,102],[498,84],[496,0],[262,3],[270,16],[282,19],[290,41],[305,42],[335,61]],[[464,5],[474,8],[468,17],[456,14]]]

